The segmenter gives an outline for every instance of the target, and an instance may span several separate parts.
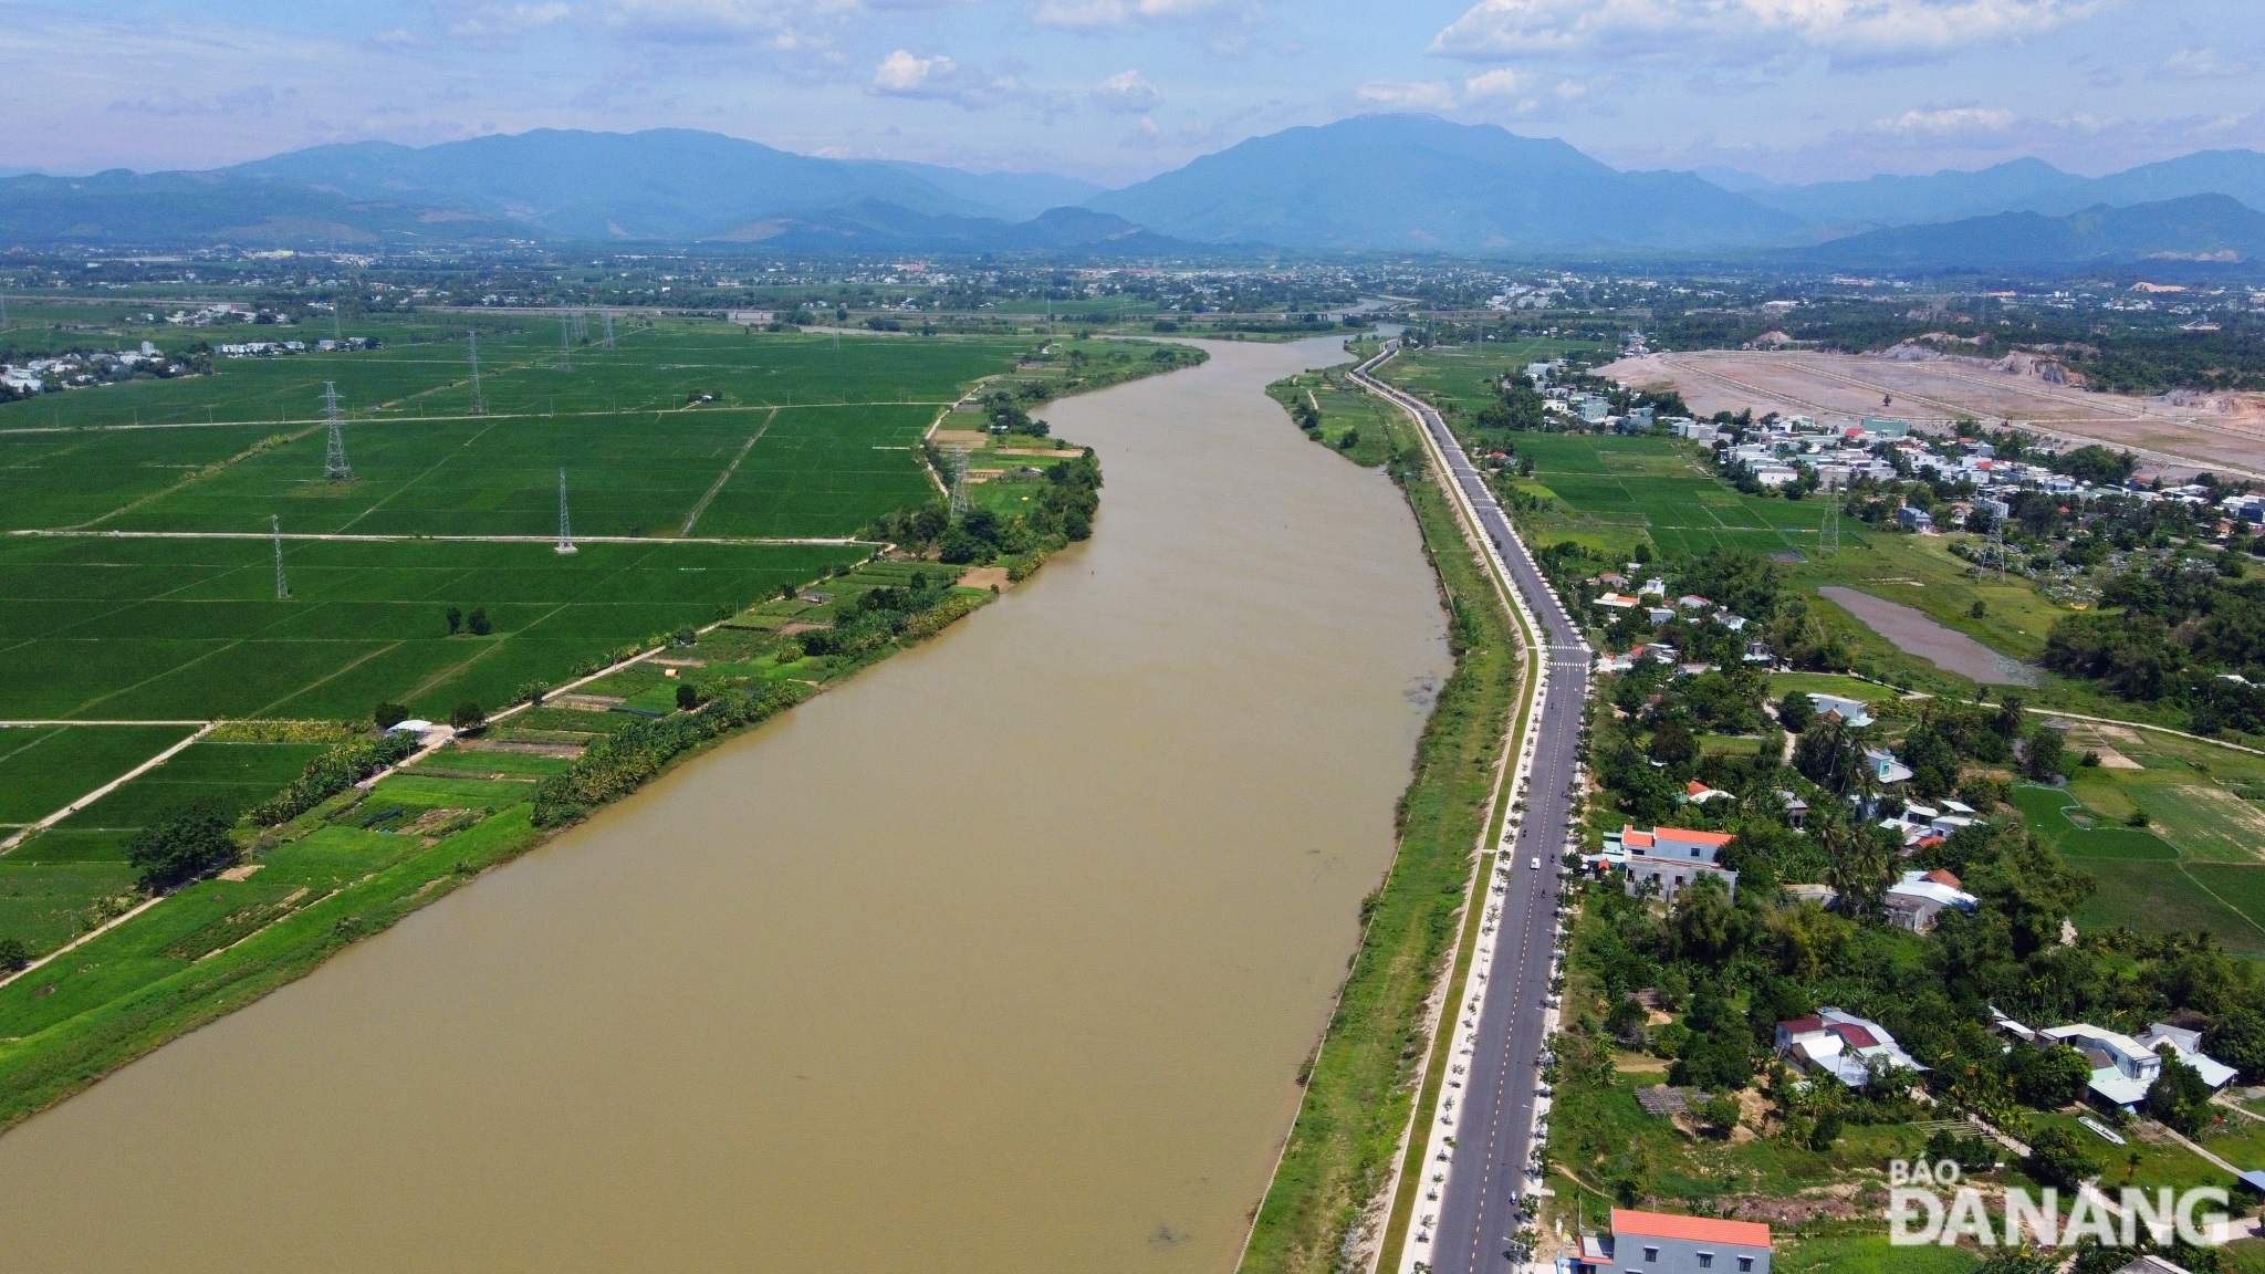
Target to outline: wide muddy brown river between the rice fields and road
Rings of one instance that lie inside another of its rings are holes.
[[[1262,388],[1046,410],[1096,540],[0,1138],[0,1267],[1223,1274],[1447,651]]]

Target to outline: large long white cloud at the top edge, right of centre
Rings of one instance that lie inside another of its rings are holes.
[[[2113,0],[1479,0],[1429,52],[1475,61],[1676,54],[1771,61],[1946,54],[2086,18]]]

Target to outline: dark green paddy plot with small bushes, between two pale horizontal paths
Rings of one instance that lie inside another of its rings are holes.
[[[285,544],[274,596],[260,540],[0,540],[0,719],[426,716],[557,685],[623,644],[700,626],[863,549],[802,544]],[[492,632],[448,632],[448,608]]]

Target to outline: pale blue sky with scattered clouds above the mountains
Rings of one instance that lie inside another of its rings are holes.
[[[0,170],[713,129],[1123,186],[1370,111],[1771,181],[2265,150],[2260,0],[0,0]]]

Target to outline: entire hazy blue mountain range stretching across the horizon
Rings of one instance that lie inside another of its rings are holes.
[[[2213,197],[2197,202],[2197,197]],[[0,245],[745,243],[777,252],[1447,252],[1995,270],[2265,256],[2265,154],[2109,177],[2036,159],[1783,186],[1626,172],[1554,138],[1357,116],[1121,190],[822,159],[695,129],[319,145],[204,172],[0,177]]]

